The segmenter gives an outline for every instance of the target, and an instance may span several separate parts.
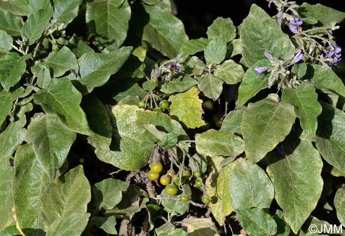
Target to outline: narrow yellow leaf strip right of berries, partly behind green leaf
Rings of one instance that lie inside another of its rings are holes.
[[[229,179],[231,178],[232,171],[237,163],[238,162],[235,161],[220,169],[219,175],[216,178],[217,201],[215,203],[211,201],[211,212],[220,226],[223,226],[225,217],[233,212],[229,195]]]

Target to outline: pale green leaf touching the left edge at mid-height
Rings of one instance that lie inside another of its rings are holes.
[[[26,129],[25,112],[31,111],[33,105],[22,106],[19,112],[14,116],[16,121],[12,121],[4,131],[0,133],[0,157],[10,157],[19,145],[24,141]]]

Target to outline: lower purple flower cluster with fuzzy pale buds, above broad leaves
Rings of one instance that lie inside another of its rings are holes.
[[[290,78],[290,70],[289,67],[292,65],[300,62],[302,59],[305,58],[305,55],[302,53],[302,50],[299,49],[296,55],[292,55],[288,60],[278,60],[274,56],[272,56],[269,52],[264,52],[267,59],[270,60],[272,67],[254,67],[255,71],[259,74],[259,77],[263,72],[271,72],[270,77],[268,79],[268,87],[271,88],[277,81],[278,89],[291,87],[294,86],[296,83],[295,77]]]

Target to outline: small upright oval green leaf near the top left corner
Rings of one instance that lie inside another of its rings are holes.
[[[28,39],[29,45],[34,44],[41,37],[52,16],[52,9],[40,9],[28,17],[28,20],[23,25],[21,34],[23,38]]]

